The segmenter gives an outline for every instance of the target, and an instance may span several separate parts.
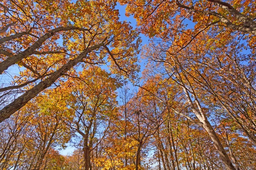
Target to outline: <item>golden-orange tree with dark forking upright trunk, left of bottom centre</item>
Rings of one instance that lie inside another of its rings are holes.
[[[64,88],[70,87],[72,95],[72,99],[67,101],[72,114],[64,123],[81,136],[83,169],[89,170],[92,169],[92,164],[95,164],[92,153],[98,152],[96,148],[105,137],[111,119],[115,116],[115,91],[120,84],[106,71],[95,66],[83,70],[78,75],[63,85]]]

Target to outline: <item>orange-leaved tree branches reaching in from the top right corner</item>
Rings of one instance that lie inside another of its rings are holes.
[[[255,4],[252,1],[221,0],[119,0],[128,4],[127,15],[134,15],[143,34],[172,39],[180,51],[204,34],[224,44],[236,38],[248,40],[255,52]],[[244,36],[245,35],[245,36]],[[244,36],[244,37],[243,37]],[[224,38],[225,37],[225,38]],[[209,44],[212,42],[209,41]],[[176,51],[176,52],[177,52]]]

